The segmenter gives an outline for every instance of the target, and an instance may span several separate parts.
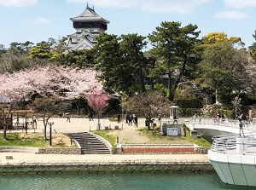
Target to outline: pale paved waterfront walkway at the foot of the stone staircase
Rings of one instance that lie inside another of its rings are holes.
[[[13,156],[13,159],[6,159]],[[205,154],[33,154],[33,153],[0,153],[0,164],[22,164],[22,163],[119,163],[119,162],[165,162],[165,163],[209,163]]]

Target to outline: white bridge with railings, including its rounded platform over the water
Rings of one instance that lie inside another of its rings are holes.
[[[218,131],[212,138],[212,148],[208,158],[224,183],[256,186],[256,133],[254,122],[234,120],[216,121],[209,118],[187,120],[190,130]],[[211,134],[212,135],[212,134]]]

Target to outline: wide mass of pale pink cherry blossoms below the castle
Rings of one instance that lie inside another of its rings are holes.
[[[15,102],[23,102],[23,109],[25,102],[34,101],[32,97],[35,95],[55,96],[60,101],[74,100],[86,97],[90,89],[102,89],[102,83],[96,79],[97,74],[98,72],[91,69],[82,70],[63,66],[43,66],[11,74],[0,74],[0,95],[5,95]],[[44,107],[50,108],[46,102]],[[52,112],[45,114],[47,115],[44,115],[44,118],[48,121]],[[47,122],[44,126],[47,126]]]

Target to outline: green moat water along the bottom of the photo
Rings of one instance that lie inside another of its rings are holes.
[[[251,190],[224,184],[217,174],[0,176],[1,190]]]

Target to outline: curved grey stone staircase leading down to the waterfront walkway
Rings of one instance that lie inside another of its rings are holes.
[[[68,133],[69,137],[79,143],[82,154],[110,154],[108,146],[96,135],[89,132]]]

